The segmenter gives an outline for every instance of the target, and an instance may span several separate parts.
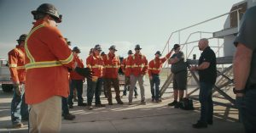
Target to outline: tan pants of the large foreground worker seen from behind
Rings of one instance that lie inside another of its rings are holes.
[[[32,104],[29,112],[30,133],[61,131],[61,97],[49,97],[42,103]]]

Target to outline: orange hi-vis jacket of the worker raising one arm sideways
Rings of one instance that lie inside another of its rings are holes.
[[[162,65],[166,62],[168,58],[171,57],[172,53],[168,53],[165,58],[154,58],[148,64],[148,75],[152,74],[158,75],[162,69]]]

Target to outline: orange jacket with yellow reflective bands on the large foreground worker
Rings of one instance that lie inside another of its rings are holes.
[[[73,53],[60,30],[38,20],[25,41],[26,103],[35,104],[53,96],[67,97],[67,68],[73,68]]]

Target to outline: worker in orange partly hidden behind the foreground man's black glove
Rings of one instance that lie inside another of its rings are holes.
[[[73,57],[75,60],[75,65],[79,68],[84,68],[83,60],[79,58],[79,53],[80,49],[79,47],[73,47]],[[86,103],[84,102],[84,98],[82,97],[83,94],[83,82],[85,80],[85,77],[82,75],[79,75],[75,71],[70,72],[70,79],[71,79],[71,84],[70,84],[70,94],[68,97],[68,105],[69,108],[73,108],[73,90],[76,88],[78,97],[79,97],[79,104],[78,106],[86,106]]]

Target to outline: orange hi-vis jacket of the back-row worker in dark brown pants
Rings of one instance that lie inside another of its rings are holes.
[[[118,56],[108,53],[104,56],[104,78],[118,78],[120,60]]]

